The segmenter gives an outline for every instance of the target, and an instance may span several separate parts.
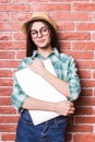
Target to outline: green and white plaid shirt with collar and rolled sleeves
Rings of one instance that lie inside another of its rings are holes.
[[[26,57],[23,59],[19,66],[19,70],[26,68],[29,63],[33,62],[35,58],[39,58],[45,60],[41,55],[35,50],[32,57]],[[47,57],[51,60],[55,71],[59,79],[67,81],[69,83],[70,88],[70,97],[68,99],[74,100],[79,97],[81,92],[80,79],[78,75],[78,69],[75,67],[75,61],[71,56],[59,52],[56,48],[54,51]],[[19,82],[14,76],[11,102],[12,105],[17,109],[22,110],[22,105],[25,99],[28,97],[28,94],[25,94]]]

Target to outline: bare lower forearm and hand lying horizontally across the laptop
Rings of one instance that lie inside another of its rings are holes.
[[[73,104],[69,100],[62,100],[57,103],[44,102],[28,97],[23,104],[22,108],[29,110],[47,110],[55,111],[62,116],[68,116],[74,113]]]

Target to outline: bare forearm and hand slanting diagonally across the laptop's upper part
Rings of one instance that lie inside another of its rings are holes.
[[[29,68],[43,76],[48,83],[50,83],[56,90],[66,96],[70,96],[69,85],[66,81],[60,80],[59,78],[51,74],[48,70],[45,69],[44,63],[39,59],[35,59]]]

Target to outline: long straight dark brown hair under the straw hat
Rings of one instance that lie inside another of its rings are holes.
[[[59,46],[58,46],[58,39],[57,39],[57,33],[55,31],[55,28],[46,21],[44,20],[35,20],[35,21],[40,21],[43,23],[45,23],[49,28],[50,28],[50,33],[51,33],[51,47],[56,47],[59,50]],[[31,57],[33,55],[34,50],[37,50],[36,45],[34,44],[34,42],[32,40],[31,37],[31,27],[32,24],[35,22],[29,22],[26,28],[26,57]]]

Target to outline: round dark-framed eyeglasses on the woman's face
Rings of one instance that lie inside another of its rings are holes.
[[[47,26],[43,26],[39,32],[36,29],[32,29],[31,31],[31,36],[32,38],[37,38],[38,37],[38,33],[40,33],[41,36],[47,36],[49,34],[49,28]]]

